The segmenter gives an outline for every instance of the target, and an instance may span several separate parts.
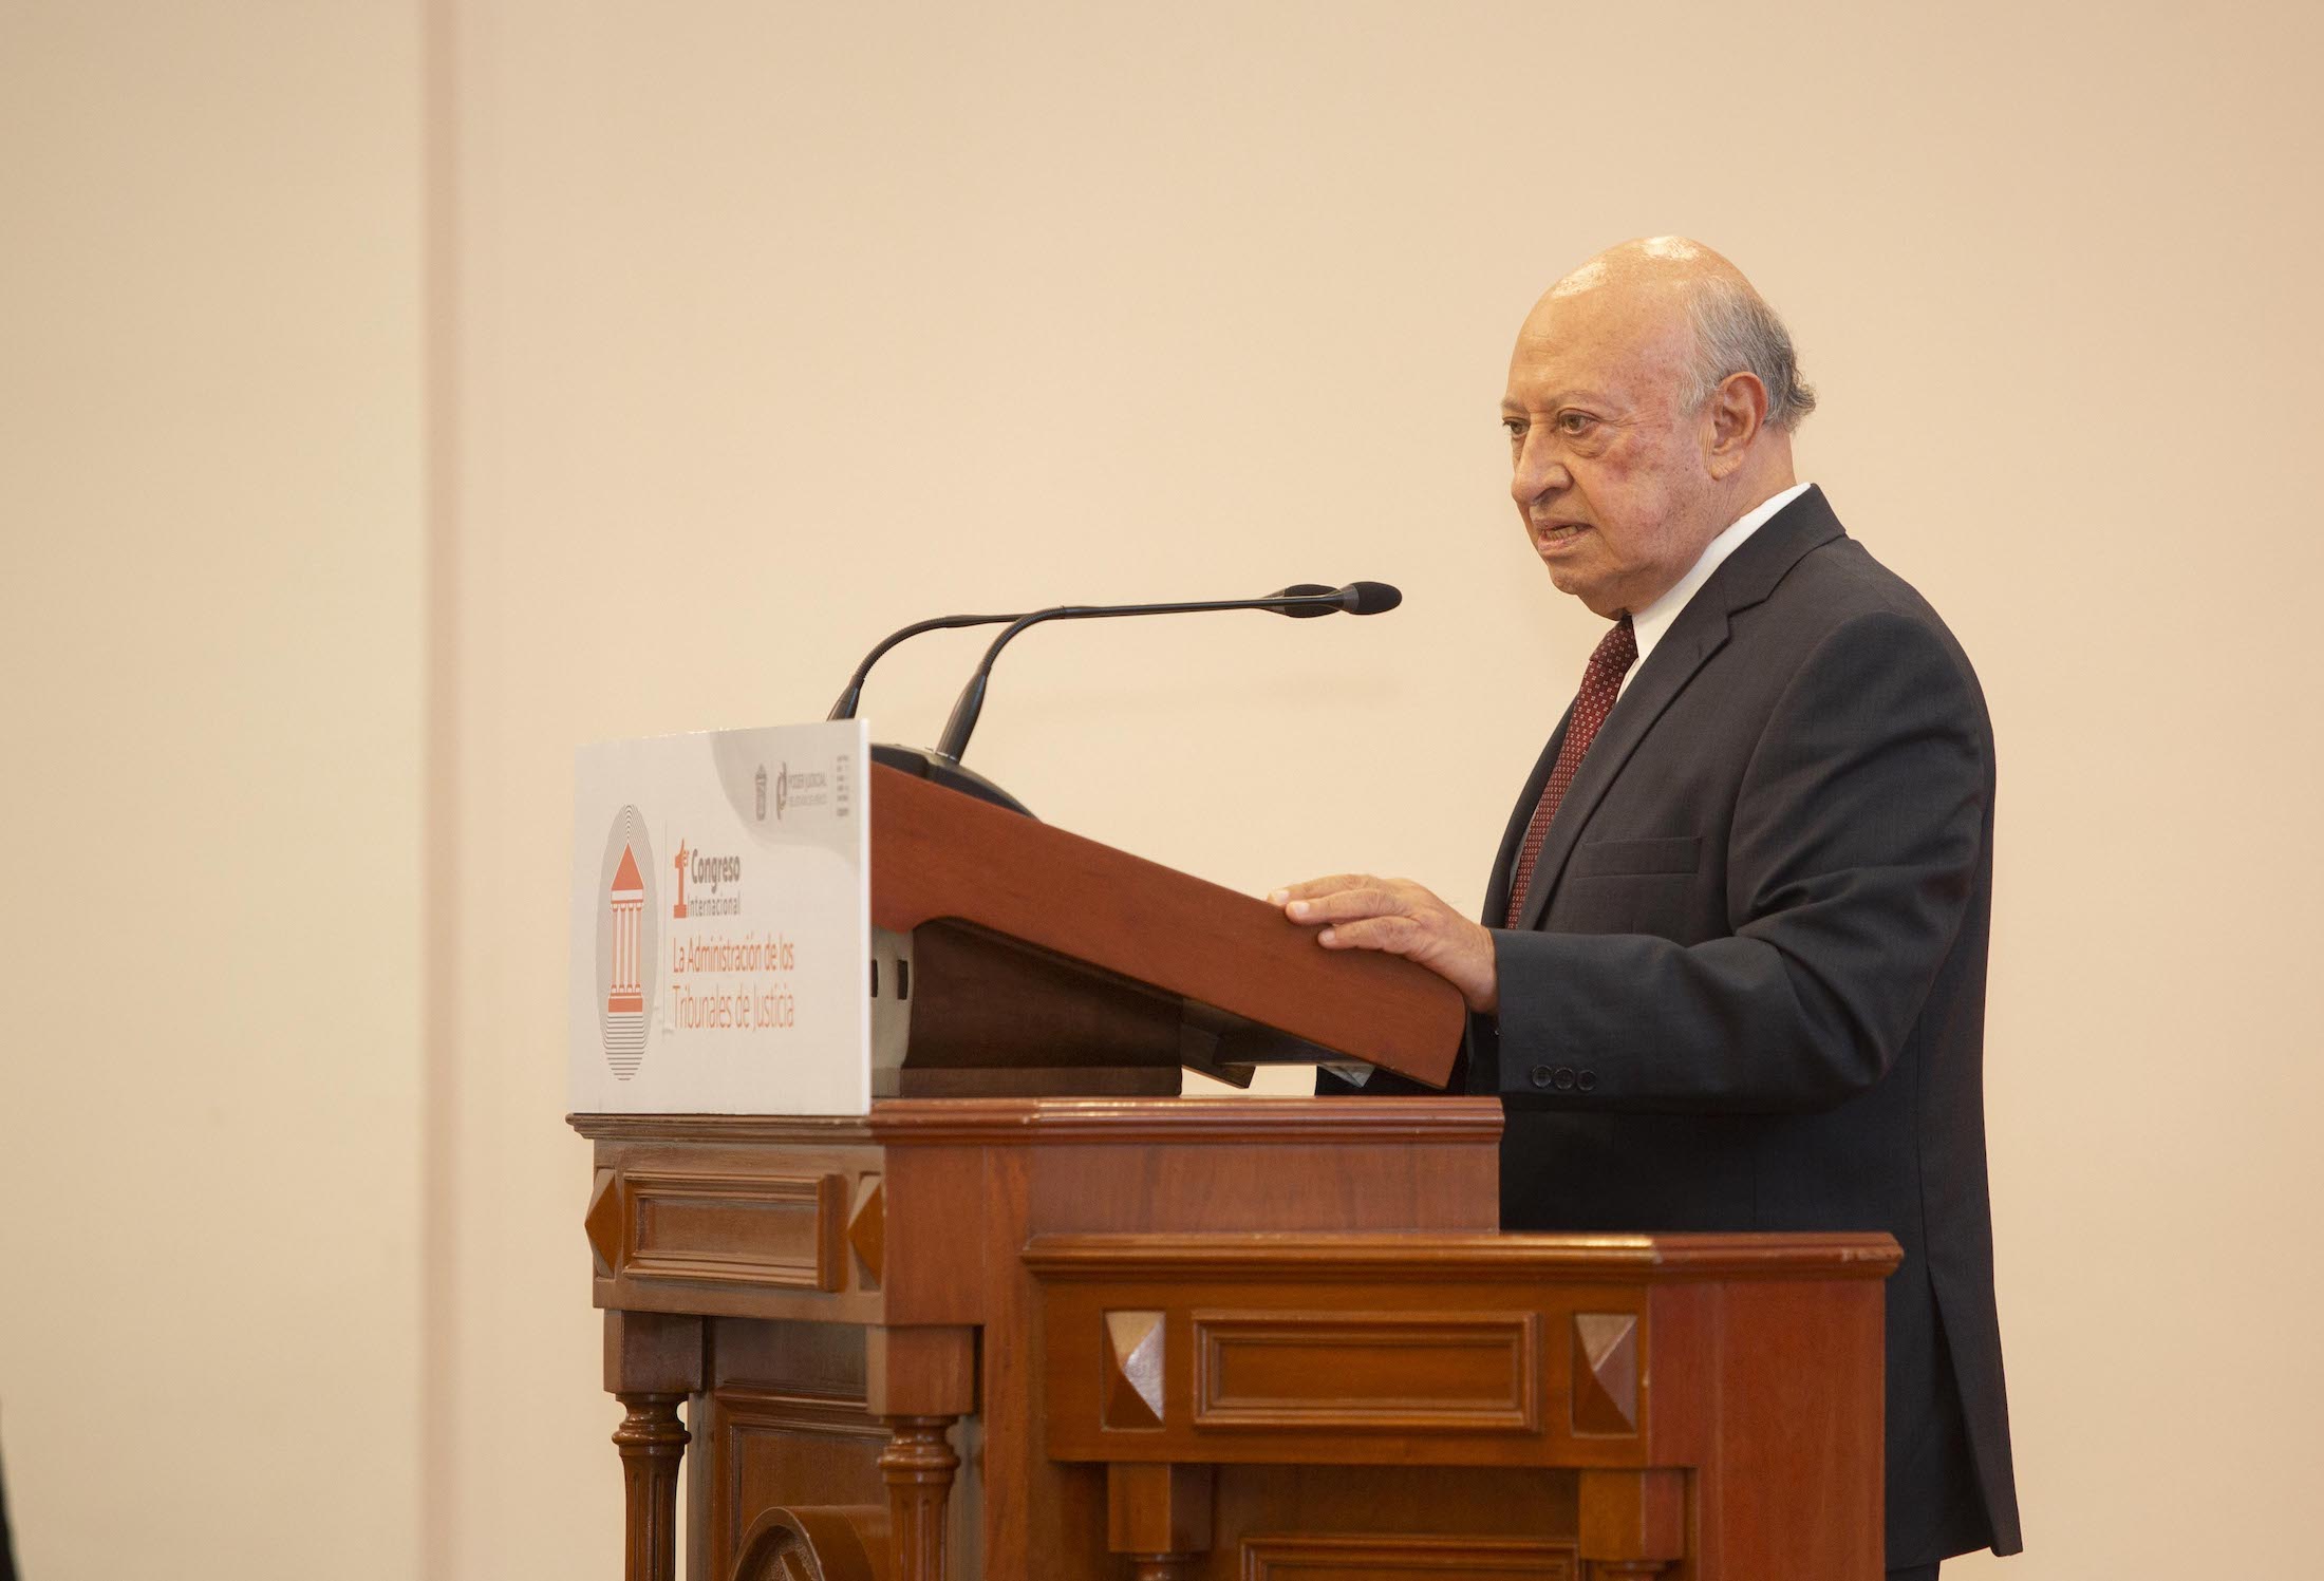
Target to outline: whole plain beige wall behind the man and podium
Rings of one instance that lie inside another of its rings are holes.
[[[611,1569],[586,1149],[560,1123],[576,742],[816,716],[930,611],[1380,577],[1408,595],[1387,621],[1037,632],[971,760],[1225,884],[1369,865],[1473,904],[1592,639],[1501,491],[1508,335],[1548,277],[1648,230],[1710,239],[1787,312],[1824,395],[1803,474],[1992,695],[1989,1114],[2033,1544],[2010,1574],[2298,1562],[2324,1409],[2298,1256],[2324,1109],[2305,7],[502,0],[428,7],[425,79],[411,5],[214,9],[232,93],[81,16],[40,12],[63,67],[0,67],[37,133],[9,135],[9,179],[58,216],[51,249],[0,263],[37,272],[9,277],[0,379],[12,409],[42,395],[0,481],[28,607],[9,735],[40,765],[5,795],[67,921],[12,958],[74,942],[23,1046],[77,1051],[12,1060],[0,1179],[65,1207],[0,1235],[12,1281],[95,1290],[86,1318],[0,1302],[44,1581],[121,1569],[84,1565],[86,1532],[163,1553],[105,1521],[114,1442],[67,1404],[181,1411],[258,1453],[323,1372],[363,1390],[323,1432],[372,1430],[360,1467],[386,1479],[360,1518],[402,1521],[342,1574],[411,1574],[414,1546],[430,1576]],[[270,105],[300,137],[237,130]],[[91,195],[121,181],[119,214]],[[58,295],[84,312],[40,312]],[[46,398],[93,365],[158,374],[130,407]],[[98,577],[130,586],[91,625],[53,588]],[[899,651],[876,732],[930,739],[969,653]],[[209,691],[230,702],[195,707]],[[160,763],[205,818],[151,821],[123,774]],[[277,870],[202,839],[251,811],[330,895],[295,932],[260,932]],[[232,925],[153,951],[135,981],[167,995],[93,1035],[123,995],[88,949],[105,839]],[[237,988],[260,981],[307,983],[311,1021],[253,1018]],[[116,1093],[98,1197],[63,1195],[88,1137],[51,1116]],[[214,1137],[232,1162],[200,1162]],[[363,1232],[286,1256],[325,1209]],[[260,1246],[223,1232],[249,1216],[277,1225]],[[153,1258],[167,1325],[114,1272]],[[281,1386],[170,1383],[246,1293]],[[323,1344],[342,1323],[353,1381]],[[328,1460],[195,1479],[188,1509],[211,1532],[344,1516],[356,1469]]]

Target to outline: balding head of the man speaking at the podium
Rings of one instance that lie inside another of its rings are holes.
[[[1815,407],[1783,321],[1701,242],[1622,242],[1518,330],[1501,421],[1511,493],[1557,588],[1636,614],[1792,486]]]

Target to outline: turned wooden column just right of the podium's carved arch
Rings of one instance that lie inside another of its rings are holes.
[[[944,1507],[960,1469],[946,1432],[976,1409],[976,1330],[867,1330],[865,1397],[890,1432],[878,1469],[888,1483],[892,1576],[944,1581]]]

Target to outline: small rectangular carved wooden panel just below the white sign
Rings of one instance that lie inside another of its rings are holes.
[[[679,1174],[623,1179],[623,1274],[837,1290],[846,1176]]]

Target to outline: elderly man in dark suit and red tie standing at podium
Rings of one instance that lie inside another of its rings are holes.
[[[1706,246],[1557,281],[1508,367],[1511,493],[1611,625],[1485,918],[1367,874],[1276,900],[1469,1000],[1469,1090],[1508,1104],[1506,1228],[1903,1244],[1887,1562],[1934,1576],[2020,1548],[1985,1183],[1994,744],[1945,623],[1794,479],[1813,405]]]

